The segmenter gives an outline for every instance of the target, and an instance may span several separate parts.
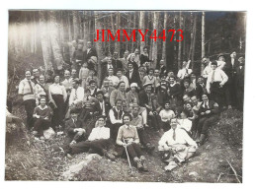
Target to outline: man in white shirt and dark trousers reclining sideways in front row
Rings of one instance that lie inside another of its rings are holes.
[[[105,124],[106,117],[99,116],[97,120],[97,127],[93,128],[88,140],[71,145],[70,154],[73,155],[88,152],[89,149],[92,149],[100,156],[106,156],[111,160],[115,160],[115,157],[108,153],[108,149],[111,146],[110,128],[105,127]]]

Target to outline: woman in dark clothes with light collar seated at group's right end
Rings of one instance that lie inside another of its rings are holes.
[[[208,129],[218,120],[218,104],[213,100],[209,100],[207,95],[203,95],[202,100],[203,102],[199,109],[200,116],[198,123],[200,138],[197,140],[200,145],[204,144],[207,138]]]

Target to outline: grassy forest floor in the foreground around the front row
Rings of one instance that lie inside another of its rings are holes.
[[[25,119],[23,107],[14,108],[15,115]],[[132,181],[132,182],[239,182],[242,181],[242,113],[237,110],[223,111],[219,122],[210,129],[207,142],[194,158],[172,172],[165,172],[164,162],[157,151],[146,154],[148,172],[128,174],[128,160],[91,160],[74,174],[71,180],[81,181]],[[148,131],[150,141],[157,149],[160,137]],[[79,154],[71,159],[55,151],[64,136],[55,136],[45,142],[36,141],[29,135],[30,146],[14,143],[6,147],[6,180],[64,180],[63,172],[71,165],[85,160]],[[235,176],[232,168],[236,171]],[[238,179],[239,181],[238,181]]]

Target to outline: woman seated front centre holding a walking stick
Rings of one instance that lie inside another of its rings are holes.
[[[119,129],[117,144],[123,146],[128,150],[128,156],[135,163],[138,170],[147,171],[145,164],[145,157],[139,147],[139,139],[136,127],[130,125],[131,116],[130,114],[125,114],[123,116],[123,121],[125,125],[122,125]],[[123,148],[123,153],[125,149]],[[122,153],[122,154],[123,154]]]

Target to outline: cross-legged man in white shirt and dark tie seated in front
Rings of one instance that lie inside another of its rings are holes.
[[[188,133],[178,126],[175,118],[171,120],[171,129],[164,133],[158,144],[158,150],[163,155],[162,159],[168,162],[164,167],[166,171],[171,171],[179,163],[190,159],[198,148],[197,143]]]

